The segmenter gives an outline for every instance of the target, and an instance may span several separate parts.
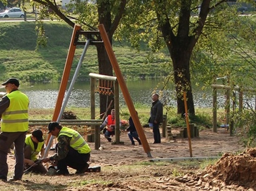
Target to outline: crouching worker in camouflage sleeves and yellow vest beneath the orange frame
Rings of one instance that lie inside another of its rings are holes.
[[[48,125],[48,134],[57,137],[56,154],[43,159],[43,162],[55,161],[57,174],[68,175],[68,166],[76,169],[76,174],[87,172],[91,148],[84,138],[75,130],[62,127],[57,122]]]

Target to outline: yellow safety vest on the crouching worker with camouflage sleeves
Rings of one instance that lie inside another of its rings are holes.
[[[86,141],[84,140],[84,138],[75,130],[67,128],[67,127],[63,127],[60,130],[60,133],[58,135],[65,135],[67,137],[71,137],[70,140],[70,146],[72,148],[74,148],[75,150],[77,150],[79,153],[89,153],[91,152],[91,148],[88,145],[88,143],[86,143]]]

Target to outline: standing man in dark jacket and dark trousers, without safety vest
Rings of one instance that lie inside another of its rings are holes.
[[[163,122],[163,104],[158,98],[158,94],[153,94],[149,120],[149,123],[153,124],[154,144],[161,143],[159,124]]]

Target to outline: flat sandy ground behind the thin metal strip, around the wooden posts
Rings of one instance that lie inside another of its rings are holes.
[[[160,132],[162,130],[160,129]],[[171,158],[171,157],[190,157],[188,139],[176,139],[175,141],[166,141],[166,138],[161,139],[161,144],[152,144],[153,133],[149,128],[144,129],[147,142],[150,146],[150,154],[155,158]],[[239,138],[230,137],[225,129],[218,129],[217,133],[213,133],[211,129],[203,130],[199,133],[198,138],[191,139],[191,148],[193,157],[210,157],[221,156],[225,152],[242,151],[244,148],[238,143]],[[113,139],[114,141],[114,139]],[[121,133],[120,141],[124,145],[111,145],[101,136],[101,145],[103,150],[93,150],[91,154],[91,163],[93,165],[103,165],[110,158],[118,158],[118,160],[110,160],[112,164],[131,163],[138,160],[149,160],[143,146],[138,145],[135,141],[135,146],[127,136],[127,133]],[[94,144],[91,144],[94,149]]]

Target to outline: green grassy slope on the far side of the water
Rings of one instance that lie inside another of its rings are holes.
[[[46,48],[36,48],[37,34],[34,22],[7,22],[0,25],[0,80],[16,76],[22,81],[56,81],[62,76],[73,29],[63,22],[45,22]],[[76,49],[72,72],[80,59],[83,46]],[[156,64],[160,67],[157,75],[166,75],[166,63],[170,57],[154,55],[148,62],[148,51],[139,53],[128,46],[114,43],[113,49],[124,76],[155,76]],[[163,68],[163,69],[162,69]],[[90,46],[80,69],[78,79],[88,78],[88,73],[98,73],[97,51]]]

